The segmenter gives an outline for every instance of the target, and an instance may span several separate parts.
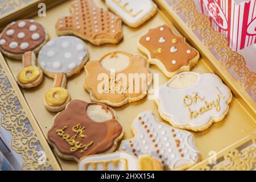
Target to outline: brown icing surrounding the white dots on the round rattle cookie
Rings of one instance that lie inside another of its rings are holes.
[[[26,22],[26,26],[24,26],[22,28],[18,27],[19,22]],[[31,25],[36,26],[36,31],[30,31]],[[7,35],[6,32],[8,30],[14,30],[14,34],[11,36]],[[18,38],[18,34],[21,32],[23,32],[25,34],[24,38]],[[31,38],[31,36],[33,34],[39,34],[40,38],[38,40],[33,40]],[[44,30],[44,27],[41,24],[31,21],[31,20],[18,20],[15,23],[9,24],[5,28],[5,30],[3,30],[0,39],[4,39],[6,42],[4,44],[2,44],[0,47],[4,51],[9,52],[9,53],[22,54],[24,52],[32,51],[35,48],[39,47],[40,44],[42,44],[44,42],[45,38],[46,38],[46,31]],[[11,42],[18,43],[18,46],[14,49],[11,49],[9,47],[9,44]],[[29,44],[28,48],[24,49],[24,50],[20,49],[20,44],[22,44],[22,43],[28,43]]]

